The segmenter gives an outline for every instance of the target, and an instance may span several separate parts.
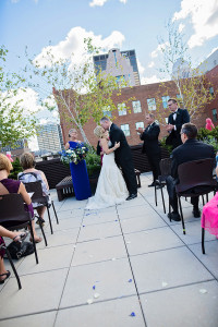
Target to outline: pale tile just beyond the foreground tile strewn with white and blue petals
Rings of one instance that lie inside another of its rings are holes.
[[[122,237],[89,241],[76,245],[72,266],[110,261],[120,257],[126,257]]]

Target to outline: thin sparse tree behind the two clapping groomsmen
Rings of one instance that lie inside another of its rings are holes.
[[[183,41],[184,35],[179,32],[175,23],[169,22],[166,27],[168,39],[159,38],[159,47],[164,57],[160,72],[165,74],[165,77],[171,76],[180,106],[189,110],[193,121],[202,114],[205,105],[215,98],[215,95],[209,92],[211,83],[207,81],[204,72],[193,68],[189,48]],[[161,87],[162,95],[171,96],[167,83],[162,83]]]

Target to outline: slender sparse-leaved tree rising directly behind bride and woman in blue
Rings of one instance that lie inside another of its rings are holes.
[[[40,77],[40,83],[32,83],[28,86],[38,89],[39,94],[45,94],[44,85],[50,86],[46,96],[52,89],[57,101],[61,119],[72,128],[80,130],[84,142],[89,144],[84,124],[93,118],[96,123],[106,111],[111,112],[117,109],[112,95],[121,95],[121,88],[126,86],[124,80],[117,83],[116,77],[105,76],[100,71],[97,75],[94,71],[93,56],[99,49],[93,47],[92,39],[84,39],[85,52],[81,64],[72,63],[73,53],[70,59],[59,58],[52,53],[51,48],[40,58],[29,62],[34,76]],[[26,68],[26,72],[29,71]],[[128,104],[126,101],[122,101]],[[48,106],[49,109],[49,106]],[[50,108],[51,110],[53,108]]]

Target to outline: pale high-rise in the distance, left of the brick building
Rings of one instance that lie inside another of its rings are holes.
[[[38,125],[37,141],[39,150],[57,153],[63,149],[63,136],[59,124]]]

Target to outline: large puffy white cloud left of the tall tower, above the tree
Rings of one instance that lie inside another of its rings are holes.
[[[55,60],[71,59],[72,64],[81,64],[87,59],[84,47],[84,38],[92,38],[93,46],[100,47],[104,50],[111,48],[121,48],[125,37],[119,31],[113,31],[108,37],[102,38],[101,35],[95,35],[92,31],[87,32],[77,26],[73,27],[66,35],[65,39],[56,46],[48,46],[35,58],[40,65],[49,65],[48,52]],[[73,53],[73,56],[72,56]]]

